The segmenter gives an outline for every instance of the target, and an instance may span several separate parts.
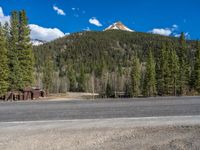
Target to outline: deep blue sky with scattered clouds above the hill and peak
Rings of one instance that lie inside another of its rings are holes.
[[[41,39],[47,37],[38,34],[50,34],[47,40],[55,38],[52,33],[103,30],[116,21],[140,32],[178,36],[183,31],[200,38],[199,0],[0,0],[0,7],[0,21],[25,9],[32,34]]]

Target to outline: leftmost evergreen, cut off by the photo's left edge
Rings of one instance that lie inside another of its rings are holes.
[[[5,32],[0,24],[0,97],[8,90],[8,57]]]

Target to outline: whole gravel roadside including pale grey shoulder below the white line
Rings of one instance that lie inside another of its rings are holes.
[[[0,123],[3,150],[199,150],[200,116]]]

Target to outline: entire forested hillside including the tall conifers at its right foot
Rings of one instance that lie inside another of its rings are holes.
[[[186,41],[184,34],[178,39],[116,30],[75,33],[34,47],[36,80],[56,93],[197,94],[199,51],[198,42]]]

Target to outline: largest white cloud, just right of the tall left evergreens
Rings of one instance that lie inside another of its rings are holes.
[[[65,34],[58,28],[44,28],[36,24],[30,24],[29,27],[31,29],[31,39],[52,41],[59,37],[65,36]]]

